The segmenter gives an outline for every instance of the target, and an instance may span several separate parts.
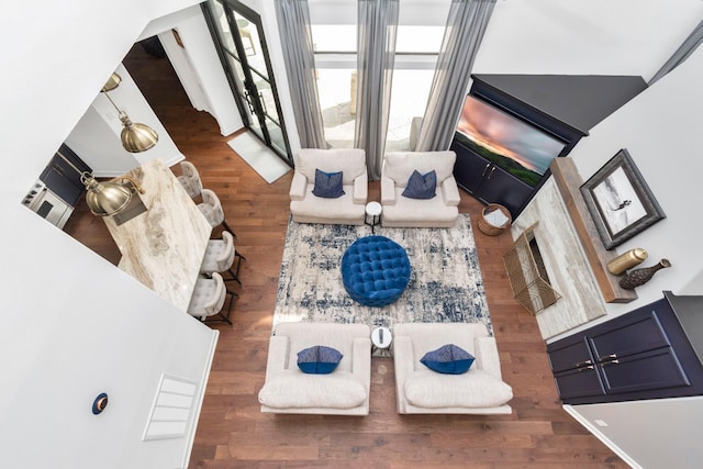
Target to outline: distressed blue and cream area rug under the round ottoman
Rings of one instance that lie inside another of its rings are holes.
[[[274,327],[281,322],[362,323],[371,328],[400,323],[473,323],[491,317],[468,215],[453,228],[383,228],[403,246],[411,277],[400,300],[383,308],[365,306],[347,294],[342,282],[344,252],[371,235],[367,225],[288,224],[276,295]]]

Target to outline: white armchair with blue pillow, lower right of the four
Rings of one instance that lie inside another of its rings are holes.
[[[464,375],[443,375],[420,359],[454,344],[476,357]],[[510,414],[495,339],[483,324],[414,323],[393,327],[395,395],[401,414]]]

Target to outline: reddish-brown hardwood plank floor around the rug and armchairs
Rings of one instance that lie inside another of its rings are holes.
[[[502,255],[510,234],[486,236],[473,224],[512,415],[399,415],[391,358],[373,358],[366,417],[261,414],[268,338],[289,217],[292,174],[267,185],[235,155],[215,121],[192,109],[167,59],[136,45],[125,67],[180,150],[222,199],[245,256],[233,325],[219,325],[212,372],[190,468],[626,468],[562,409],[546,346],[533,316],[512,299]],[[179,174],[179,168],[174,168]],[[378,182],[370,198],[379,200]],[[100,219],[77,209],[66,231],[116,264],[120,255]],[[478,220],[482,205],[462,192],[460,211]]]

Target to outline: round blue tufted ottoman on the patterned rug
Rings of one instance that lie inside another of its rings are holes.
[[[357,239],[342,256],[342,281],[349,297],[364,305],[391,304],[410,281],[408,254],[384,236]]]

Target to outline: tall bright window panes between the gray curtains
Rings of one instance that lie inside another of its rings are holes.
[[[353,147],[356,1],[309,0],[309,5],[325,139],[335,148]],[[448,0],[400,2],[387,150],[410,148],[413,118],[425,113],[448,11]]]

